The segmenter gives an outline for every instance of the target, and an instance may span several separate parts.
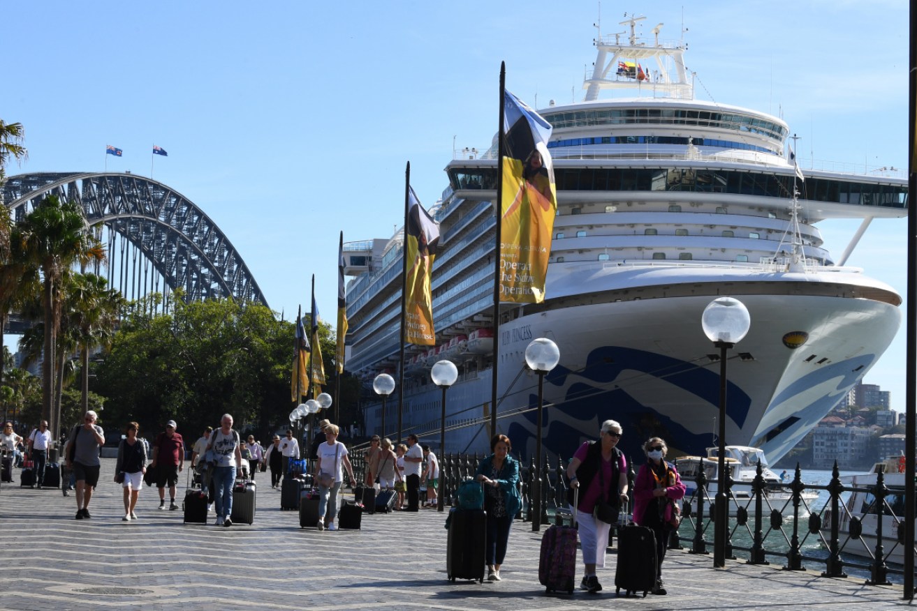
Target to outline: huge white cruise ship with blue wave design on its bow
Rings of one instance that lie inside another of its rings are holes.
[[[569,458],[601,422],[624,427],[621,447],[658,435],[670,456],[702,455],[716,443],[717,350],[703,309],[720,296],[751,316],[729,352],[726,442],[760,448],[773,464],[867,374],[901,322],[900,295],[845,267],[823,245],[825,219],[907,213],[907,181],[880,174],[798,169],[790,127],[776,116],[694,98],[681,40],[600,37],[575,104],[538,112],[551,125],[558,213],[546,299],[501,305],[498,431],[514,453],[535,449],[537,377],[525,347],[558,344],[545,378],[543,442]],[[494,113],[496,113],[496,108]],[[345,245],[348,371],[366,390],[367,431],[439,440],[440,391],[429,375],[452,360],[446,452],[489,449],[492,413],[497,138],[480,156],[453,158],[448,186],[430,208],[440,224],[433,270],[436,346],[408,345],[399,363],[401,230]],[[398,379],[382,415],[371,390]],[[399,393],[402,397],[399,398]],[[383,429],[384,422],[384,429]]]

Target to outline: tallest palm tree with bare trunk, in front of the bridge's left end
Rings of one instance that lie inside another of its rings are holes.
[[[65,269],[79,262],[105,261],[103,245],[86,225],[83,209],[77,202],[61,202],[50,195],[18,224],[18,244],[14,245],[31,267],[40,269],[44,311],[44,358],[42,359],[42,420],[51,421],[56,439],[60,423],[52,410],[54,396],[55,340],[61,326],[61,277]],[[49,333],[50,332],[50,333]]]

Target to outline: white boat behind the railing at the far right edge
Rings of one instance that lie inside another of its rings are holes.
[[[888,488],[882,510],[882,553],[887,562],[904,563],[904,547],[899,542],[899,531],[904,529],[904,457],[887,458],[873,464],[868,473],[845,475],[841,483],[853,490],[841,508],[838,522],[841,551],[845,554],[872,560],[876,552],[878,529],[878,504],[873,487],[881,473]],[[824,512],[822,534],[831,537],[831,509]],[[903,532],[901,532],[903,536]]]

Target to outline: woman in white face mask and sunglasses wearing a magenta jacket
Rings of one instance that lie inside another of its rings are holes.
[[[668,535],[672,528],[669,521],[675,512],[675,505],[685,496],[685,485],[681,483],[674,464],[664,459],[668,452],[666,442],[653,437],[643,444],[646,464],[634,481],[634,521],[640,526],[653,529],[656,535],[656,587],[653,594],[665,595],[662,585],[662,561],[666,557]]]

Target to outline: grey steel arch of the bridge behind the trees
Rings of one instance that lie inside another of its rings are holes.
[[[107,229],[112,267],[117,236],[122,240],[122,258],[125,244],[131,245],[135,264],[139,252],[166,287],[184,289],[187,301],[232,297],[268,305],[242,256],[213,220],[160,181],[127,172],[18,174],[6,181],[3,202],[18,220],[52,194],[79,202],[90,224],[102,224]],[[99,237],[105,243],[105,238]],[[137,272],[135,267],[135,276]],[[146,278],[144,273],[144,287]],[[141,279],[130,281],[139,287]],[[113,283],[113,288],[118,287]],[[120,289],[127,297],[125,287]]]

